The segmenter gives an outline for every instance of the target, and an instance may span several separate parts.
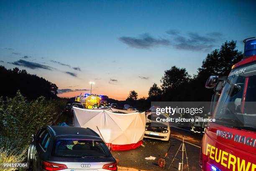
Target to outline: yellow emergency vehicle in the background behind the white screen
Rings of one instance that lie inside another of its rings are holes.
[[[91,109],[93,107],[99,107],[102,103],[106,104],[107,100],[103,100],[102,98],[102,95],[87,93],[84,96],[77,96],[75,101],[82,103],[86,109]]]

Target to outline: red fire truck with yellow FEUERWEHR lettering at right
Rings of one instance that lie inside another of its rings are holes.
[[[202,171],[256,171],[256,37],[228,77],[210,76],[213,118],[202,138]]]

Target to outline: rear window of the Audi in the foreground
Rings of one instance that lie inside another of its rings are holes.
[[[52,156],[74,158],[110,157],[110,151],[102,141],[58,139],[54,140]]]

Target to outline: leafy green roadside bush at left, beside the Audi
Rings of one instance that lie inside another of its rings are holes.
[[[0,97],[0,163],[25,161],[31,135],[51,125],[65,105],[66,100],[44,97],[28,102],[19,91],[6,101]]]

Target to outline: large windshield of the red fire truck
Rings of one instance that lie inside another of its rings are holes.
[[[256,131],[256,64],[230,72],[214,118],[227,127]]]

